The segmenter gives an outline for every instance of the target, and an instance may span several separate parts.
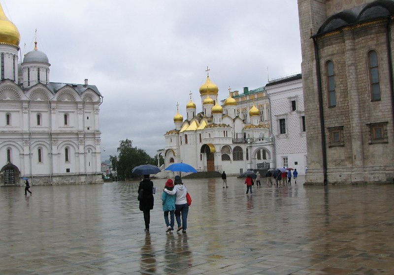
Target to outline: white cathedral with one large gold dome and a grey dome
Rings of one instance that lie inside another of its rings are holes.
[[[0,5],[0,185],[102,183],[99,90],[50,82],[37,42],[21,63],[19,43]]]

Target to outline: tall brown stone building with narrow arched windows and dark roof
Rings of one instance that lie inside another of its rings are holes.
[[[310,183],[393,182],[393,0],[298,0]]]

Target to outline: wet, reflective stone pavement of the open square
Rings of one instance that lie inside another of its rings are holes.
[[[265,179],[264,179],[265,180]],[[394,274],[394,185],[253,186],[184,180],[187,233],[150,232],[138,183],[0,188],[0,275]],[[176,223],[175,223],[176,224]],[[175,225],[176,226],[176,225]]]

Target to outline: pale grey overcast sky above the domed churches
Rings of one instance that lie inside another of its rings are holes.
[[[186,118],[189,92],[209,78],[219,100],[243,87],[301,71],[296,0],[0,0],[21,34],[23,53],[38,49],[50,81],[83,84],[103,95],[102,160],[126,138],[151,156]],[[25,48],[26,44],[26,48]]]

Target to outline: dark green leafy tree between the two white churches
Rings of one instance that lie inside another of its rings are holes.
[[[132,147],[132,141],[129,139],[121,140],[117,151],[119,157],[116,162],[116,170],[118,171],[118,178],[121,179],[133,177],[134,175],[131,173],[133,167],[153,162],[153,158],[145,150]]]

